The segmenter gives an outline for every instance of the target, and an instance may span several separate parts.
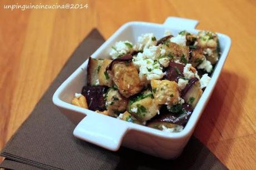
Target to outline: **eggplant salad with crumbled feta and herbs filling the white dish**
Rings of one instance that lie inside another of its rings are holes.
[[[137,43],[119,41],[111,59],[88,59],[87,84],[72,104],[123,121],[165,132],[188,122],[220,56],[214,32],[156,39],[142,34]]]

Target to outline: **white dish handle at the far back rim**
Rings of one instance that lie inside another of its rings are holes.
[[[179,18],[179,17],[168,17],[163,23],[169,27],[181,28],[181,29],[195,29],[199,22],[194,19]]]

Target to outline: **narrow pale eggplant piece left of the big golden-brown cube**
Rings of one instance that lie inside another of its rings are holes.
[[[111,59],[104,59],[100,67],[98,76],[99,76],[99,83],[101,86],[108,86],[108,87],[113,86],[112,78],[106,71],[106,68],[107,66],[109,66],[110,63],[111,63]]]

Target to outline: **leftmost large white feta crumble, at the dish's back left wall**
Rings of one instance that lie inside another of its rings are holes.
[[[132,51],[132,43],[129,41],[119,41],[115,43],[115,46],[112,47],[110,51],[110,56],[113,59],[116,59],[124,54],[127,54]]]

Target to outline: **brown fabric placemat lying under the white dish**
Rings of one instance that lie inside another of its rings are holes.
[[[1,156],[9,169],[227,169],[213,153],[192,137],[181,156],[163,160],[121,147],[111,152],[73,137],[72,124],[52,103],[52,96],[77,67],[102,43],[93,29],[82,41],[35,109],[13,135]]]

